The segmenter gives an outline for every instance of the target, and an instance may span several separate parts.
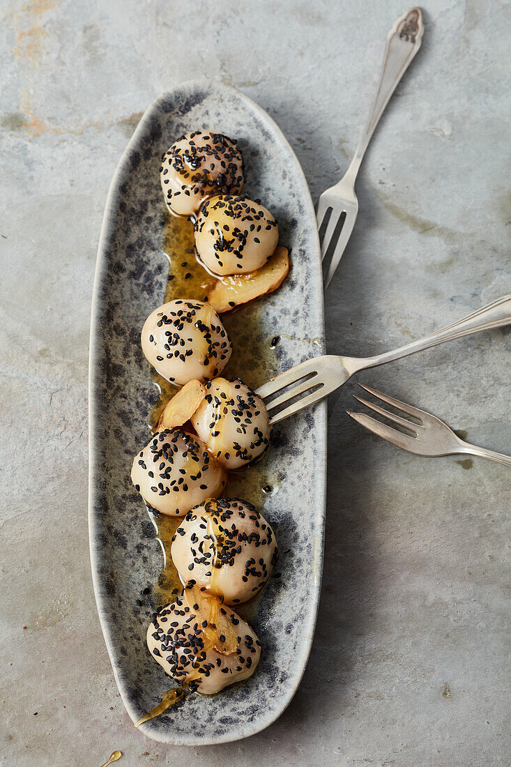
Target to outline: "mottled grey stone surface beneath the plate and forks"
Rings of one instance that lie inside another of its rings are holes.
[[[348,165],[403,11],[397,0],[2,4],[5,764],[101,765],[115,748],[120,765],[509,763],[509,471],[379,442],[345,416],[355,381],[329,406],[311,660],[273,726],[207,752],[136,732],[91,586],[92,277],[140,114],[190,77],[234,84],[282,127],[315,199]],[[361,169],[361,212],[326,299],[332,352],[383,351],[509,292],[509,5],[431,0],[426,21]],[[360,379],[511,449],[508,331]]]

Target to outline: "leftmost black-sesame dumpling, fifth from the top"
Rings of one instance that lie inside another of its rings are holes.
[[[223,492],[226,472],[196,436],[164,429],[135,456],[131,481],[153,509],[183,517],[193,506]]]

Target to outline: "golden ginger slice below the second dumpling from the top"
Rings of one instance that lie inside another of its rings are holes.
[[[209,288],[209,306],[219,314],[230,311],[239,304],[246,304],[253,298],[271,293],[282,285],[289,271],[287,248],[275,249],[269,260],[255,272],[245,275],[229,275],[216,280]]]

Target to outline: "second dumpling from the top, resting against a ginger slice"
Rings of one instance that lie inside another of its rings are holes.
[[[279,227],[260,202],[246,196],[207,200],[194,224],[195,245],[204,265],[216,275],[255,272],[279,242]]]

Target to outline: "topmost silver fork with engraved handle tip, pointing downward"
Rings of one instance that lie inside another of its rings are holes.
[[[335,186],[331,186],[330,189],[326,189],[319,198],[318,212],[316,214],[319,229],[321,229],[326,213],[331,209],[331,216],[328,219],[325,235],[323,235],[321,242],[322,258],[325,258],[328,245],[330,245],[334,232],[338,229],[338,224],[342,226],[328,267],[328,273],[325,277],[325,288],[328,287],[335,269],[338,267],[341,255],[348,244],[348,239],[350,239],[351,231],[357,218],[358,199],[354,193],[354,183],[365,150],[368,148],[368,143],[371,140],[378,120],[380,120],[388,100],[394,93],[397,83],[401,80],[408,64],[410,64],[410,61],[419,50],[423,34],[424,23],[420,8],[411,8],[404,16],[397,19],[387,37],[387,48],[385,49],[380,84],[378,85],[368,123],[364,128],[364,133],[362,133],[361,140],[354,153],[354,158],[351,160],[351,165],[341,181],[335,184]]]

